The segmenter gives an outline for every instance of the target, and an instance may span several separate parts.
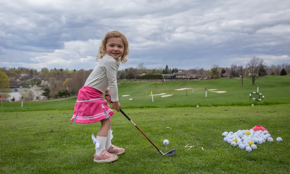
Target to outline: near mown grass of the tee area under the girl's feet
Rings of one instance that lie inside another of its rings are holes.
[[[289,107],[124,109],[161,151],[166,152],[162,142],[168,139],[167,151],[175,148],[176,154],[161,155],[126,117],[116,113],[112,142],[126,152],[107,164],[94,163],[92,157],[91,135],[96,135],[99,122],[71,122],[73,110],[4,113],[0,116],[0,173],[289,173]],[[268,129],[274,142],[258,144],[248,153],[223,141],[224,131],[255,125]],[[278,143],[277,137],[283,141]],[[195,147],[188,151],[187,144]]]

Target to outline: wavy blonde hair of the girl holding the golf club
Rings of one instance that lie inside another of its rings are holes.
[[[102,59],[104,57],[104,55],[106,54],[106,44],[108,43],[108,39],[110,37],[118,37],[118,38],[122,39],[125,48],[124,48],[124,53],[123,53],[121,59],[119,59],[119,61],[124,64],[127,61],[127,55],[129,54],[129,43],[128,43],[125,35],[120,33],[119,31],[111,31],[105,35],[105,37],[102,40],[102,44],[99,47],[99,53],[97,55],[97,60]]]

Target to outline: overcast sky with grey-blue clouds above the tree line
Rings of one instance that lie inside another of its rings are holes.
[[[0,0],[0,67],[93,69],[112,30],[129,41],[119,70],[290,63],[289,14],[289,0]]]

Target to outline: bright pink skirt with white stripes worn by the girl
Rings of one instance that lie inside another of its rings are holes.
[[[75,110],[70,121],[76,123],[94,123],[111,117],[115,112],[99,90],[83,86],[77,94]]]

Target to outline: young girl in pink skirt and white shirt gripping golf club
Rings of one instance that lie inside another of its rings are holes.
[[[129,54],[129,44],[126,37],[118,32],[108,32],[99,47],[97,59],[100,63],[89,75],[84,86],[77,94],[77,102],[71,121],[76,123],[101,122],[102,126],[97,133],[97,137],[92,135],[96,144],[94,162],[113,162],[118,159],[117,155],[125,152],[124,148],[119,148],[111,144],[113,138],[111,131],[111,115],[115,112],[107,102],[113,103],[113,109],[119,112],[118,102],[117,72],[120,62],[127,61]],[[103,93],[110,97],[103,97]]]

